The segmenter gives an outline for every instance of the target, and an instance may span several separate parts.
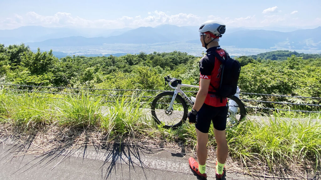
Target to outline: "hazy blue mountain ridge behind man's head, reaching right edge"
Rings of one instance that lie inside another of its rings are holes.
[[[292,32],[268,30],[237,30],[226,33],[220,40],[221,45],[259,49],[321,49],[321,27],[300,29]],[[188,43],[199,43],[199,39]]]

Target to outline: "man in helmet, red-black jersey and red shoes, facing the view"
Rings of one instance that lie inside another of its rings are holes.
[[[225,129],[228,113],[227,98],[221,98],[213,94],[214,88],[220,85],[221,62],[213,55],[218,53],[223,59],[227,58],[219,46],[219,38],[225,32],[225,25],[212,20],[204,22],[199,30],[200,41],[205,47],[206,55],[200,60],[200,88],[196,95],[195,104],[188,113],[189,123],[195,123],[197,134],[196,155],[189,158],[192,170],[199,176],[207,177],[205,171],[207,159],[208,131],[211,121],[214,126],[214,135],[217,143],[216,179],[221,179],[224,175],[224,164],[228,156],[228,145],[226,141]],[[210,86],[211,85],[211,86]]]

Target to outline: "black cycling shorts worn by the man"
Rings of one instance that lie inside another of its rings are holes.
[[[219,131],[226,129],[226,119],[228,106],[214,107],[207,104],[203,104],[201,109],[197,112],[197,123],[195,127],[202,133],[208,133],[213,121],[213,127]]]

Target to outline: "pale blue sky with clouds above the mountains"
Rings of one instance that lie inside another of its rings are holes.
[[[206,20],[228,27],[321,26],[320,0],[0,0],[0,8],[0,29],[197,26]]]

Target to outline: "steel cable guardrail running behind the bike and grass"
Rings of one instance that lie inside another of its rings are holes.
[[[99,89],[99,88],[72,88],[72,87],[52,87],[52,86],[29,86],[29,85],[16,85],[16,84],[4,84],[0,83],[3,86],[3,89],[10,91],[22,91],[22,92],[35,92],[35,93],[51,93],[51,94],[63,94],[63,95],[79,95],[78,93],[63,93],[63,92],[52,92],[52,91],[35,91],[35,90],[23,90],[23,89],[12,89],[12,88],[4,88],[4,86],[15,86],[15,87],[32,87],[32,88],[50,88],[50,89],[71,89],[71,90],[94,90],[94,91],[137,91],[137,92],[164,92],[166,90],[144,90],[144,89]],[[197,91],[184,91],[196,93]],[[240,94],[250,94],[250,95],[260,95],[260,96],[275,96],[275,97],[291,97],[291,98],[302,98],[302,99],[321,99],[320,97],[304,97],[304,96],[289,96],[289,95],[279,95],[279,94],[257,94],[257,93],[243,93]],[[143,98],[154,98],[154,96],[142,96],[142,95],[116,95],[116,94],[90,94],[94,96],[124,96],[124,97],[143,97]],[[41,97],[41,96],[39,96]],[[241,99],[243,102],[260,102],[260,103],[275,103],[275,104],[285,104],[285,105],[299,105],[299,106],[312,106],[312,107],[321,107],[321,104],[301,104],[301,103],[291,103],[291,102],[273,102],[273,101],[260,101],[260,100],[247,100]],[[106,101],[106,102],[114,102],[114,101]],[[276,108],[266,108],[266,107],[252,107],[245,106],[246,108],[252,109],[265,109],[265,110],[282,110],[282,111],[295,111],[295,112],[313,112],[320,113],[320,111],[307,111],[307,110],[284,110],[284,109],[276,109]]]

